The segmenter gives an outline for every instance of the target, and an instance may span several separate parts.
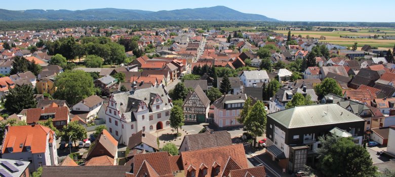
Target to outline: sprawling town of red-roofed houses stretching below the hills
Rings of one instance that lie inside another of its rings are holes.
[[[292,32],[4,31],[0,173],[307,176],[324,136],[368,146],[376,170],[394,170],[393,51]],[[122,46],[122,62],[102,48],[70,59],[49,47],[88,51],[85,39],[99,37]],[[88,64],[92,53],[101,64]]]

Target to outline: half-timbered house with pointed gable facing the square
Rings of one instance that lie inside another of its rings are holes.
[[[185,121],[206,122],[209,115],[210,99],[198,85],[185,99],[182,105]]]

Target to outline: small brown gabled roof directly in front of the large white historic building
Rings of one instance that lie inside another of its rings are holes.
[[[138,131],[136,134],[132,135],[129,138],[128,148],[134,149],[136,146],[140,145],[141,143],[144,143],[155,150],[159,150],[159,147],[157,146],[156,143],[156,137],[149,134],[148,132],[143,133],[143,130]]]

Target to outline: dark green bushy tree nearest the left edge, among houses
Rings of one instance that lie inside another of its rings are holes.
[[[35,108],[37,105],[34,99],[33,87],[30,85],[17,85],[14,89],[10,89],[6,95],[4,107],[12,113],[19,113],[22,109]]]

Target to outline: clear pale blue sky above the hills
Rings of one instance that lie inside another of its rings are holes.
[[[363,21],[395,22],[395,1],[367,0],[302,0],[302,1],[234,1],[234,0],[171,0],[171,1],[135,1],[135,0],[19,0],[16,6],[3,6],[1,9],[66,9],[84,10],[96,8],[138,9],[147,11],[175,10],[185,8],[203,8],[226,6],[251,14],[261,14],[284,21]]]

